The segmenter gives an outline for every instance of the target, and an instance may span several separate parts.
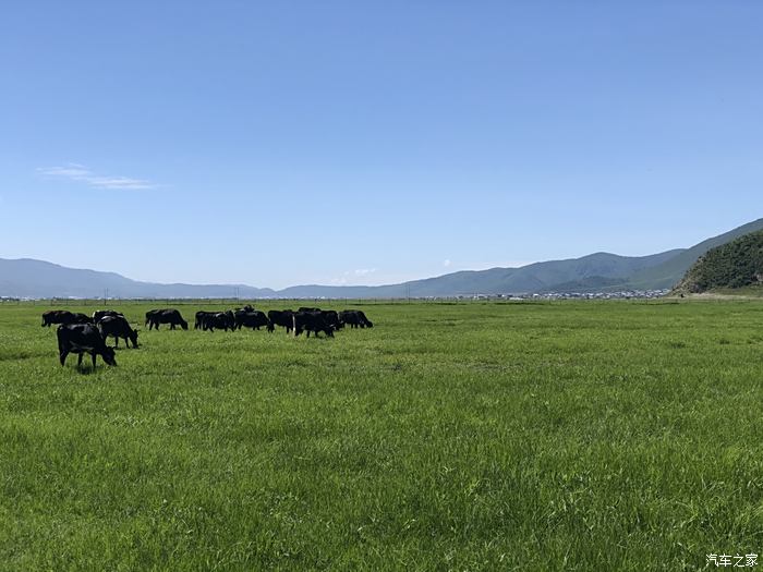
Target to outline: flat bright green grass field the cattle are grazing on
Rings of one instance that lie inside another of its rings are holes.
[[[49,307],[0,306],[0,570],[763,552],[763,301],[362,307],[335,339],[142,331],[78,373]]]

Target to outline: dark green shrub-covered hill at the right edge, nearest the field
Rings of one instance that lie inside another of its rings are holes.
[[[763,285],[763,231],[751,232],[701,256],[676,287],[676,292]]]

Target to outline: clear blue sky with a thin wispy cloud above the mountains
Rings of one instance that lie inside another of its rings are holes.
[[[763,216],[763,2],[13,2],[0,257],[389,283]]]

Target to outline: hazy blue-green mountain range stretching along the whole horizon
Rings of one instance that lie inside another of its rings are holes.
[[[535,263],[520,268],[464,270],[378,287],[308,284],[271,290],[245,284],[159,284],[131,280],[114,272],[80,270],[29,258],[0,258],[0,296],[383,299],[659,290],[673,288],[700,256],[711,248],[759,230],[763,230],[763,219],[689,248],[676,248],[649,256],[595,253],[581,258]]]

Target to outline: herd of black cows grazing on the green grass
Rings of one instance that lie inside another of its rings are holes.
[[[301,307],[296,312],[291,309],[271,309],[267,314],[246,305],[243,308],[229,309],[226,312],[204,312],[196,313],[194,329],[203,331],[235,331],[242,328],[259,330],[265,328],[268,332],[274,332],[276,327],[284,328],[287,333],[300,336],[306,332],[310,338],[323,332],[326,337],[332,338],[334,332],[350,328],[372,328],[374,325],[366,318],[360,309],[346,309],[336,312],[320,308]],[[124,345],[137,348],[137,332],[133,329],[123,314],[112,309],[94,312],[92,316],[81,313],[72,313],[65,309],[51,309],[43,313],[43,327],[50,327],[58,324],[57,337],[59,358],[61,365],[66,362],[70,353],[78,355],[77,367],[82,366],[82,358],[85,353],[93,360],[93,367],[96,366],[96,356],[100,355],[108,365],[117,365],[114,360],[114,348],[119,346],[119,340],[124,340]],[[180,326],[189,329],[189,322],[178,309],[164,308],[146,312],[146,322],[149,330],[159,329],[160,325],[169,325],[171,330]],[[114,339],[114,348],[106,344],[108,338]]]

